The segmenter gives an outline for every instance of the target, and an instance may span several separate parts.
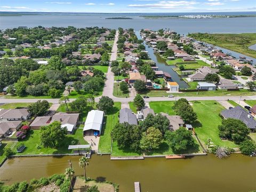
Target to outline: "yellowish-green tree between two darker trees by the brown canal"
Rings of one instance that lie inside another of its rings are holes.
[[[158,149],[162,143],[162,133],[155,127],[149,127],[146,132],[142,133],[140,140],[140,148],[142,150],[150,151]]]

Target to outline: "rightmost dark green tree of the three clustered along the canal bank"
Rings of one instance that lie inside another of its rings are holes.
[[[187,150],[189,147],[195,145],[192,132],[186,130],[185,127],[180,127],[175,131],[166,131],[164,137],[174,151]]]

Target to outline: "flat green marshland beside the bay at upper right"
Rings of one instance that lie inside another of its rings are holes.
[[[256,33],[191,34],[190,36],[197,40],[256,58],[256,51],[249,49],[249,46],[256,43]]]

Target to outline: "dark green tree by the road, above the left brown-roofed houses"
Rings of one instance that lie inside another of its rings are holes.
[[[46,100],[38,100],[28,106],[28,111],[31,115],[41,116],[44,115],[50,108],[50,103]]]

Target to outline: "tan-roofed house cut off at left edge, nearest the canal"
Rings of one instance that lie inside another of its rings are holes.
[[[0,138],[6,137],[12,131],[17,131],[22,121],[0,121]]]

